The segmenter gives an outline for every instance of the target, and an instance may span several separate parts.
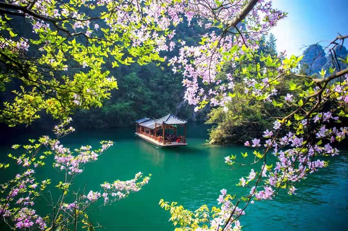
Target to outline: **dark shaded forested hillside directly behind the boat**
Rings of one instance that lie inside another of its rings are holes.
[[[192,107],[182,99],[181,78],[168,68],[151,63],[120,69],[123,74],[117,78],[119,89],[112,91],[111,99],[102,108],[76,113],[77,126],[124,127],[133,125],[137,119],[160,118],[169,112],[180,118],[195,119]],[[199,114],[204,118],[204,112]]]

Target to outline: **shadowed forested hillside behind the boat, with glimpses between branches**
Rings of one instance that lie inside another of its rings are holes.
[[[199,42],[203,29],[193,21],[190,27],[179,25],[175,28],[175,34],[177,35],[175,42],[185,41],[187,44],[194,45]],[[175,47],[170,51],[161,52],[161,56],[166,56],[168,60],[178,52],[179,49]],[[111,96],[103,100],[102,107],[77,109],[72,115],[76,128],[126,127],[133,125],[139,118],[160,118],[169,112],[191,121],[206,120],[208,109],[194,112],[194,107],[184,101],[182,77],[180,74],[173,73],[172,67],[168,66],[167,62],[160,65],[158,62],[147,65],[129,64],[107,65],[106,71],[116,78],[118,88],[111,90]],[[6,87],[20,91],[21,84],[21,81],[13,79],[6,83]],[[0,93],[0,100],[9,101],[10,96],[8,92]],[[49,129],[52,118],[45,111],[38,114],[41,120],[34,121],[33,126]]]

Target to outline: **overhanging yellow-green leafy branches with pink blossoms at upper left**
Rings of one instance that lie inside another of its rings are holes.
[[[101,107],[118,87],[115,67],[164,61],[160,52],[173,33],[158,23],[164,12],[153,18],[122,1],[69,4],[2,4],[0,90],[8,96],[0,122],[31,124],[42,113],[62,119]],[[14,81],[20,87],[11,88]]]

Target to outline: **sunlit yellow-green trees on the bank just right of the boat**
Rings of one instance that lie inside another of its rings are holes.
[[[257,55],[270,56],[276,58],[277,51],[275,46],[275,37],[270,34],[268,37],[263,36],[259,41],[259,50]],[[259,61],[259,57],[257,57]],[[263,63],[263,62],[261,62]],[[246,61],[241,68],[252,65],[252,62]],[[229,67],[225,68],[229,70]],[[220,76],[224,76],[221,73]],[[285,93],[286,79],[279,81],[277,86],[278,97]],[[231,102],[225,107],[217,107],[208,113],[207,124],[214,126],[209,130],[209,139],[212,144],[232,144],[244,143],[253,137],[260,137],[266,128],[272,127],[272,116],[280,116],[283,112],[280,108],[275,109],[271,102],[256,101],[244,92],[243,76],[235,76],[235,87]]]

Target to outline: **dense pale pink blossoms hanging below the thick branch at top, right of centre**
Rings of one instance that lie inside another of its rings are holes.
[[[240,4],[236,2],[240,2]],[[189,3],[189,9],[192,11],[190,15],[197,18],[199,25],[203,25],[201,20],[204,18],[206,27],[210,25],[210,27],[216,27],[217,30],[220,30],[221,24],[219,22],[228,26],[229,20],[242,10],[244,6],[242,1],[236,2],[224,3],[224,7],[214,1],[208,1],[207,5]],[[219,13],[212,14],[212,9]],[[203,18],[202,15],[204,15]],[[238,26],[238,30],[242,33],[247,31],[248,39],[244,39],[242,35],[238,34],[220,36],[213,31],[202,37],[200,45],[181,44],[179,56],[171,58],[169,64],[173,66],[173,72],[180,72],[183,76],[183,85],[186,88],[184,98],[188,103],[197,105],[209,101],[212,106],[224,106],[226,102],[229,102],[230,97],[227,93],[234,87],[233,70],[228,73],[229,78],[225,81],[217,80],[216,74],[221,71],[226,61],[232,62],[234,57],[237,58],[245,54],[246,51],[257,50],[258,44],[254,41],[258,41],[264,32],[275,26],[277,21],[284,17],[284,12],[272,9],[270,1],[259,1],[248,14],[244,25]],[[207,19],[212,23],[208,24]],[[208,26],[208,28],[210,27]],[[263,86],[266,87],[269,85],[269,80],[267,78],[264,80]],[[203,87],[207,84],[211,86],[209,91],[206,90],[207,87]],[[211,90],[212,88],[214,90]],[[260,95],[262,92],[254,88],[254,94]],[[270,101],[270,96],[275,94],[276,90],[273,88],[271,95],[265,97],[266,100]],[[200,108],[198,106],[195,110]]]

